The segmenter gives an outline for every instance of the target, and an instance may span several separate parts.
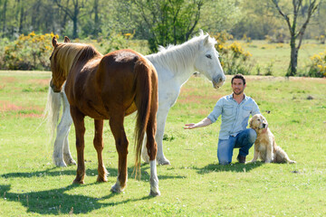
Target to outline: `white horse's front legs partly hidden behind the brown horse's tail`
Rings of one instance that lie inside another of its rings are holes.
[[[164,127],[168,117],[168,109],[159,108],[158,105],[158,114],[157,114],[157,132],[155,135],[155,141],[158,144],[158,154],[157,161],[159,165],[170,165],[170,162],[163,154],[163,136],[164,136]],[[146,143],[143,143],[141,150],[141,157],[146,163],[149,163],[149,155],[147,148],[145,146]]]

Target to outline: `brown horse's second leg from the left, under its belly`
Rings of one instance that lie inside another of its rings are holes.
[[[94,120],[95,124],[95,137],[93,140],[94,147],[96,149],[96,152],[98,154],[98,161],[99,161],[99,166],[98,166],[98,182],[107,182],[107,175],[108,171],[106,170],[104,163],[103,163],[103,157],[102,157],[102,151],[103,151],[103,120]]]

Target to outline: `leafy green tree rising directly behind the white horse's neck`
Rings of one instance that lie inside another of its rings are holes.
[[[138,14],[135,22],[148,38],[150,50],[158,45],[185,42],[194,32],[204,0],[131,0]]]

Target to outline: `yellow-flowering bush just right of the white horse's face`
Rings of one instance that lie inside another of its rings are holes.
[[[249,58],[250,52],[245,52],[240,42],[228,43],[233,36],[228,33],[217,33],[214,35],[217,41],[216,50],[220,54],[220,61],[226,74],[250,74],[253,65]]]

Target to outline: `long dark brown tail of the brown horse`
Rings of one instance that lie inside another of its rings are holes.
[[[138,172],[140,172],[140,155],[141,155],[141,146],[145,136],[146,128],[149,122],[149,113],[152,101],[152,79],[153,79],[153,70],[151,63],[146,61],[138,61],[135,66],[136,74],[136,97],[135,103],[138,109],[136,115],[136,126],[135,126],[135,150],[136,150],[136,159],[135,159],[135,169],[136,177]],[[156,75],[155,75],[156,76]],[[156,81],[157,82],[157,81]],[[157,85],[157,83],[155,84]],[[156,90],[158,91],[158,90]],[[140,175],[140,173],[139,173]]]

